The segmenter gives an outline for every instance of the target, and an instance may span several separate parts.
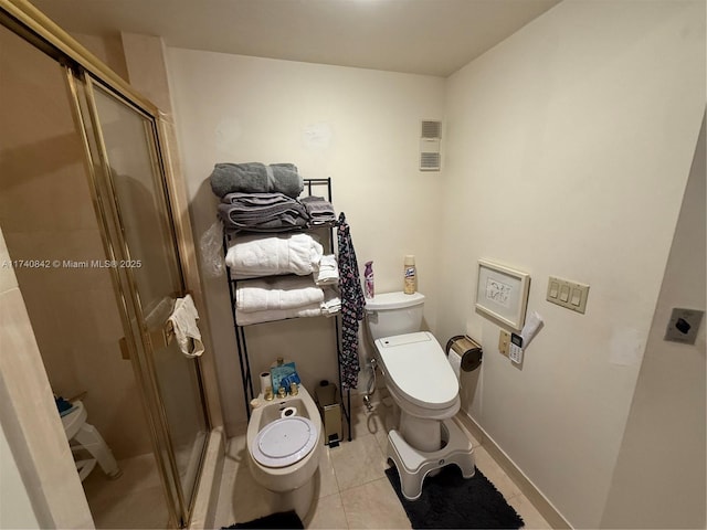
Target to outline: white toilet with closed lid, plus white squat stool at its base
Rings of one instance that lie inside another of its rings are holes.
[[[460,410],[458,381],[434,336],[420,331],[424,295],[386,293],[366,300],[366,321],[376,344],[386,386],[400,410],[398,428],[388,434],[402,494],[415,500],[424,477],[456,464],[474,475],[472,444],[454,423]]]

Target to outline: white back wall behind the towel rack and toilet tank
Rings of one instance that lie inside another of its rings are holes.
[[[333,178],[334,205],[346,212],[359,265],[373,259],[379,292],[402,288],[405,254],[418,258],[420,290],[432,289],[441,177],[418,170],[418,150],[420,120],[442,117],[444,80],[180,49],[168,49],[167,61],[197,239],[215,220],[214,163],[294,162],[305,178]],[[228,287],[223,276],[204,278],[232,433],[245,406]],[[255,377],[285,353],[305,384],[337,380],[330,321],[246,332]]]

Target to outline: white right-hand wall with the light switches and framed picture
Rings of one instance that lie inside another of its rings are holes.
[[[435,331],[482,340],[463,407],[574,527],[601,522],[704,108],[703,1],[564,1],[449,80]],[[531,275],[521,368],[474,310],[481,257]],[[549,275],[590,284],[585,315]]]

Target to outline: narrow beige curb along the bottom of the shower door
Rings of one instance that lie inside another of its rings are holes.
[[[221,487],[221,471],[225,456],[225,435],[223,427],[217,427],[209,433],[204,462],[199,477],[197,498],[189,520],[190,530],[215,528],[214,520]]]

